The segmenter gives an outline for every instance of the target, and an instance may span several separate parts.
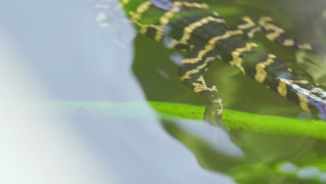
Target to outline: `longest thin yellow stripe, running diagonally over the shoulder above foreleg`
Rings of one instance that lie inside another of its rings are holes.
[[[226,31],[222,36],[215,36],[214,38],[211,38],[208,41],[208,44],[205,45],[205,48],[199,52],[196,58],[184,59],[183,63],[197,63],[201,61],[201,59],[203,59],[203,56],[205,56],[205,54],[207,54],[208,52],[212,51],[212,49],[215,48],[218,40],[224,40],[226,38],[230,38],[231,36],[240,35],[242,33],[243,32],[241,30]]]

